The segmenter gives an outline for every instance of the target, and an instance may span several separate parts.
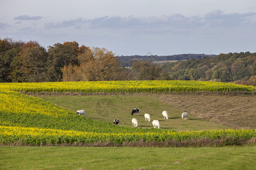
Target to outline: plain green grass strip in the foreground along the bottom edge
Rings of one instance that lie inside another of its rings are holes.
[[[1,169],[254,169],[251,147],[10,147]]]

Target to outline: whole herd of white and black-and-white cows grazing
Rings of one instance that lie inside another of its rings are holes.
[[[141,112],[141,110],[139,108],[134,108],[131,111],[131,116],[133,116],[133,114],[136,115],[136,113],[137,113],[137,116],[139,116],[140,112]],[[85,111],[84,110],[76,111],[76,113],[79,114],[79,115],[83,115],[85,117]],[[168,112],[167,111],[163,111],[162,114],[163,114],[164,119],[168,119],[169,116],[168,116]],[[150,122],[150,120],[151,120],[150,114],[145,113],[144,117],[145,117],[145,121],[149,121]],[[188,120],[188,113],[187,112],[182,113],[181,114],[181,118],[182,118],[182,120]],[[119,122],[120,121],[117,118],[115,118],[115,120],[113,121],[113,124],[118,125]],[[139,124],[138,124],[137,118],[133,118],[131,120],[131,122],[133,124],[133,127],[135,127],[135,128],[138,127]],[[158,128],[159,129],[160,128],[159,120],[153,120],[152,121],[152,125],[154,126],[154,128]]]

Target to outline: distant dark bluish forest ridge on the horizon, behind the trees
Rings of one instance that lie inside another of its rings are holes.
[[[122,65],[125,67],[131,67],[133,62],[150,60],[150,61],[168,61],[168,60],[187,60],[187,59],[198,59],[203,57],[214,57],[216,55],[207,55],[207,54],[176,54],[172,56],[156,56],[156,55],[147,55],[147,56],[120,56],[118,60],[122,62]]]

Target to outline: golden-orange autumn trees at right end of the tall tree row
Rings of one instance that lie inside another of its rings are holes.
[[[79,65],[69,64],[63,68],[63,81],[115,80],[118,77],[119,63],[112,51],[88,48],[78,59]]]

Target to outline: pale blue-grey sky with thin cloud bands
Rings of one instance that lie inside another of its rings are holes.
[[[256,51],[255,0],[0,0],[0,39],[118,56]]]

